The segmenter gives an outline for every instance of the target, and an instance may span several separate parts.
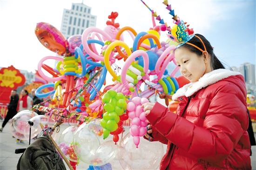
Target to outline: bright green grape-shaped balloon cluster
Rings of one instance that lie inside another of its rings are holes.
[[[120,116],[126,111],[127,103],[122,93],[108,90],[102,97],[106,112],[101,119],[101,126],[105,129],[103,139],[106,139],[110,132],[117,130]]]

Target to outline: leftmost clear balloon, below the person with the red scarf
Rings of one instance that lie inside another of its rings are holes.
[[[13,136],[14,137],[17,136],[16,134],[22,134],[24,136],[24,129],[26,129],[27,121],[33,118],[34,116],[35,114],[29,110],[20,111],[19,113],[17,113],[12,118],[12,126],[15,130],[15,131],[11,130],[11,133],[13,134]],[[12,128],[11,124],[10,124],[10,128]],[[28,134],[29,134],[29,129],[28,129]],[[21,140],[24,140],[24,139],[26,139],[26,137]]]

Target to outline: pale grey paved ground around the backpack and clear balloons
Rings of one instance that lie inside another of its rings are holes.
[[[2,123],[0,123],[2,124]],[[61,132],[66,129],[68,124],[61,124],[61,131],[58,133],[56,142],[58,144],[59,137]],[[127,130],[128,131],[128,130]],[[255,133],[256,136],[256,133]],[[21,154],[15,154],[14,151],[17,148],[27,148],[28,142],[25,141],[25,144],[16,144],[15,138],[9,132],[9,123],[5,126],[3,132],[0,132],[0,170],[16,170],[16,165]],[[253,156],[251,157],[252,170],[256,170],[256,146],[252,147]],[[121,165],[118,161],[118,158],[115,158],[110,162],[112,165],[115,165],[116,170],[122,170]],[[68,168],[67,168],[68,169]],[[88,165],[80,162],[77,166],[77,170],[87,170]]]

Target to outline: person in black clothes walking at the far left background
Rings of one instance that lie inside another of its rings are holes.
[[[2,126],[0,127],[0,131],[3,131],[3,128],[5,127],[5,125],[7,124],[7,122],[13,118],[13,116],[15,116],[17,114],[17,105],[18,105],[18,101],[19,101],[19,95],[17,94],[16,90],[12,90],[11,92],[11,96],[10,96],[10,103],[7,106],[8,111],[7,111],[7,115],[6,118],[2,124]]]

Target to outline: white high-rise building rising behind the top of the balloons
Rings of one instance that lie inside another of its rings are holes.
[[[61,21],[61,33],[68,39],[75,34],[82,34],[91,26],[96,26],[97,16],[91,14],[91,7],[83,3],[72,3],[72,8],[64,9]]]

